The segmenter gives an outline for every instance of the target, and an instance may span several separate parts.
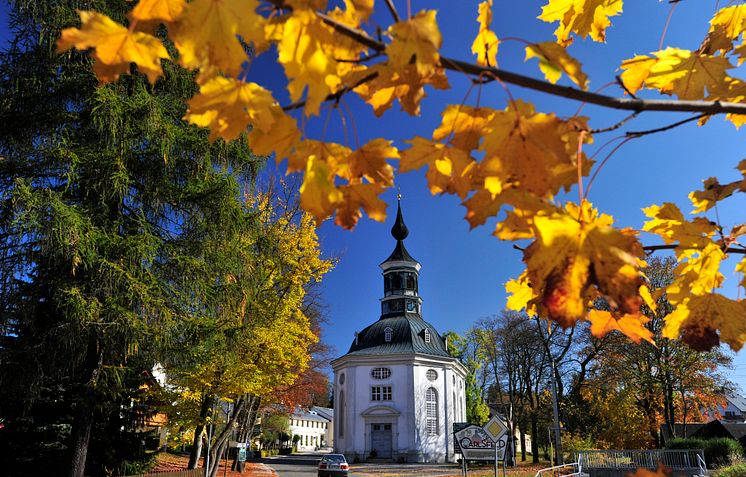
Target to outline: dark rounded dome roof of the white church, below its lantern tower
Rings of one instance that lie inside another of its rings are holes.
[[[386,328],[391,328],[391,341],[386,341]],[[425,330],[430,332],[430,342],[425,342]],[[435,327],[418,315],[407,314],[384,318],[365,328],[352,342],[348,355],[429,354],[450,356],[443,338]]]

